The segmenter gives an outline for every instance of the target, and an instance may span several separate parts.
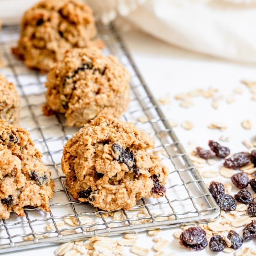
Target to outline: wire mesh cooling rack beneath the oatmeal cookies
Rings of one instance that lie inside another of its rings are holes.
[[[65,176],[60,162],[63,145],[78,129],[65,127],[63,115],[43,115],[46,75],[27,69],[11,54],[10,49],[19,36],[18,27],[4,27],[0,34],[0,54],[4,66],[0,72],[13,81],[19,91],[22,105],[20,124],[30,131],[36,147],[42,151],[43,161],[52,172],[55,188],[49,213],[28,208],[22,218],[11,213],[9,219],[1,220],[0,253],[95,235],[203,222],[220,214],[114,26],[98,26],[98,33],[106,43],[103,53],[116,55],[131,74],[131,101],[121,119],[134,122],[155,139],[155,150],[169,168],[166,196],[141,199],[129,211],[112,212],[98,210],[73,199],[64,185]]]

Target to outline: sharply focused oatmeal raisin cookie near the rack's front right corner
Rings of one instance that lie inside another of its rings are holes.
[[[132,122],[100,116],[85,124],[63,150],[62,170],[75,199],[102,210],[128,210],[142,197],[165,195],[168,174],[154,141]]]

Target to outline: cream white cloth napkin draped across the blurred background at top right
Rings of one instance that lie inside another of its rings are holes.
[[[108,22],[125,16],[175,46],[256,63],[255,0],[85,0]]]

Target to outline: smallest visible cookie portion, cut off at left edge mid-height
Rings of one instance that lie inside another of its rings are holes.
[[[18,125],[20,118],[20,96],[15,85],[0,74],[0,119]]]

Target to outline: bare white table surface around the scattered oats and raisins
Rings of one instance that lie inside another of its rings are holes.
[[[166,94],[171,97],[171,104],[162,105],[162,109],[168,119],[173,119],[178,123],[175,132],[182,144],[187,146],[188,141],[194,140],[206,148],[209,139],[219,141],[221,135],[231,137],[229,142],[221,142],[229,146],[231,152],[246,150],[242,140],[251,140],[255,138],[256,120],[254,110],[256,101],[251,100],[249,89],[241,84],[240,80],[256,81],[256,65],[246,65],[241,63],[229,62],[213,57],[202,56],[196,53],[190,53],[182,49],[177,49],[153,37],[144,34],[141,31],[132,29],[124,33],[124,39],[130,52],[137,64],[143,78],[153,92],[155,98],[161,98]],[[190,108],[179,106],[180,101],[175,100],[174,96],[179,93],[188,92],[194,89],[208,89],[213,87],[219,90],[219,95],[223,95],[223,100],[219,101],[219,108],[216,110],[211,106],[212,99],[206,99],[202,96],[193,99],[194,105]],[[241,87],[243,94],[234,94],[234,88]],[[234,95],[235,102],[226,103],[226,98]],[[252,121],[252,129],[245,130],[241,127],[241,122],[245,119]],[[183,121],[190,121],[194,127],[191,130],[185,130],[180,126]],[[212,130],[207,128],[212,122],[222,122],[228,127],[225,131]],[[222,165],[220,161],[218,166],[211,167],[218,170]],[[231,182],[222,178],[225,182]],[[218,179],[218,178],[214,178]],[[205,179],[206,183],[212,179]],[[163,230],[158,236],[167,239],[170,242],[167,252],[176,252],[176,255],[216,255],[209,250],[200,252],[191,252],[178,243],[173,237],[173,233],[178,228],[168,228]],[[241,229],[240,234],[241,234]],[[154,255],[152,246],[154,242],[147,232],[139,233],[137,245],[150,248],[149,255]],[[121,238],[115,236],[113,238]],[[246,242],[243,247],[255,247],[255,242]],[[12,252],[6,255],[34,256],[34,255],[54,255],[54,250],[58,246],[50,246],[33,250],[24,250]],[[129,251],[129,248],[127,249]],[[226,255],[223,252],[218,256]],[[231,253],[230,255],[233,255]]]

